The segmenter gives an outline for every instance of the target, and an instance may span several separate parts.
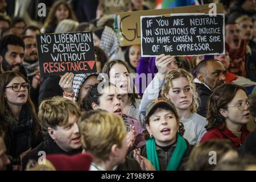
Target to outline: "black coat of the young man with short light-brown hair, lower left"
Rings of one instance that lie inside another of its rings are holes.
[[[27,166],[28,160],[29,159],[33,159],[36,160],[36,162],[38,161],[38,159],[40,158],[40,156],[42,156],[42,154],[39,153],[39,151],[44,151],[47,154],[65,154],[65,155],[73,155],[73,154],[79,154],[82,152],[82,148],[79,148],[77,150],[73,150],[71,152],[65,152],[64,150],[62,150],[56,143],[55,141],[49,137],[49,135],[47,134],[44,141],[41,142],[36,148],[34,148],[33,150],[31,150],[30,152],[27,153],[27,155],[25,155],[22,158],[22,169],[24,170]]]

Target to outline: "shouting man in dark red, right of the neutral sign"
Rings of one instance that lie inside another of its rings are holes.
[[[237,23],[225,24],[225,41],[229,44],[229,71],[238,76],[256,81],[256,51],[242,39],[241,28]]]

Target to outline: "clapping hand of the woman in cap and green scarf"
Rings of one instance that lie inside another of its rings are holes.
[[[155,167],[152,165],[150,160],[141,155],[140,148],[135,149],[133,152],[134,159],[137,160],[143,171],[155,171]]]

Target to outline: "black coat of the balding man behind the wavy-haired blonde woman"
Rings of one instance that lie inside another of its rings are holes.
[[[212,90],[208,89],[204,84],[196,84],[196,92],[199,95],[200,98],[200,104],[197,109],[197,114],[200,114],[203,117],[206,117],[207,115],[207,109],[208,109],[208,101],[210,98],[210,94],[212,94]]]

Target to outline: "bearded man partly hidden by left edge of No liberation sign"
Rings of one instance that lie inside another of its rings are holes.
[[[39,71],[39,61],[38,61],[38,51],[36,48],[36,39],[33,36],[23,36],[23,41],[25,44],[24,50],[24,63],[23,66],[27,71],[27,76],[32,83],[31,99],[37,108],[38,97],[39,97],[39,87],[41,84],[41,77]]]

